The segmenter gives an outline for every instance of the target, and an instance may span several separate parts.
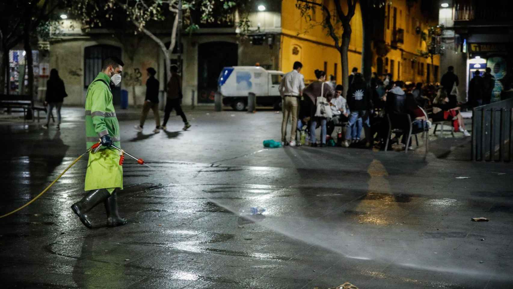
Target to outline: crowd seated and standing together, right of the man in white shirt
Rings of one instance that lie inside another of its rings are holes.
[[[452,122],[455,132],[463,132],[465,136],[470,133],[465,129],[456,95],[450,95],[443,87],[439,87],[435,99],[431,102],[423,96],[422,84],[405,86],[402,81],[390,81],[385,86],[379,78],[371,81],[371,87],[367,84],[361,73],[354,74],[347,92],[347,99],[342,96],[343,86],[337,85],[333,90],[331,85],[325,82],[324,71],[316,70],[318,78],[303,91],[304,98],[300,103],[298,118],[298,144],[306,144],[309,136],[310,146],[317,147],[315,129],[321,127],[320,146],[326,145],[326,140],[331,137],[334,128],[341,126],[337,136],[338,145],[343,147],[365,146],[372,148],[377,146],[384,149],[388,138],[388,117],[396,132],[394,138],[389,141],[389,147],[398,143],[405,149],[411,147],[411,139],[406,144],[410,123],[412,133],[428,130],[432,122]],[[329,102],[331,117],[322,118],[314,115],[317,106],[317,98],[323,95]],[[432,111],[426,113],[426,104],[431,103]],[[360,142],[361,132],[365,126],[365,141]],[[340,133],[345,129],[345,133]],[[328,138],[327,138],[328,136]],[[399,138],[402,137],[401,143]]]

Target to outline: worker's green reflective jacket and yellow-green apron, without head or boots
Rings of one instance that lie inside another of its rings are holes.
[[[117,122],[112,104],[109,83],[109,76],[100,72],[87,88],[85,106],[87,148],[97,143],[106,134],[109,134],[115,146],[121,148],[120,124]],[[123,189],[123,167],[119,161],[119,151],[114,148],[101,146],[97,152],[89,152],[85,190],[106,188],[112,193],[115,188]]]

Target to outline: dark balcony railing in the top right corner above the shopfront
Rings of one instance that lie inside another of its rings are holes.
[[[510,0],[456,0],[452,5],[453,21],[511,22]]]

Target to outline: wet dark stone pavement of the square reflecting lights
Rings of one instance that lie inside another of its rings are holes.
[[[1,115],[0,215],[84,151],[82,113],[65,108],[60,132]],[[118,114],[123,148],[155,168],[125,161],[119,204],[129,223],[106,227],[103,205],[92,210],[94,229],[78,221],[70,206],[84,193],[79,161],[0,219],[2,287],[513,286],[510,164],[440,158],[436,149],[424,160],[422,148],[265,149],[263,140],[280,139],[273,111],[189,111],[189,131],[173,116],[158,134],[152,119],[133,130],[139,110]],[[467,142],[432,138],[441,150]],[[250,206],[267,211],[236,214]]]

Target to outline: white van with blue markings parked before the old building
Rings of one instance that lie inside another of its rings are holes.
[[[273,106],[281,109],[282,98],[278,87],[283,77],[282,71],[265,70],[260,66],[231,66],[221,71],[218,79],[218,92],[223,104],[242,111],[248,104],[248,93],[257,95],[257,105]]]

